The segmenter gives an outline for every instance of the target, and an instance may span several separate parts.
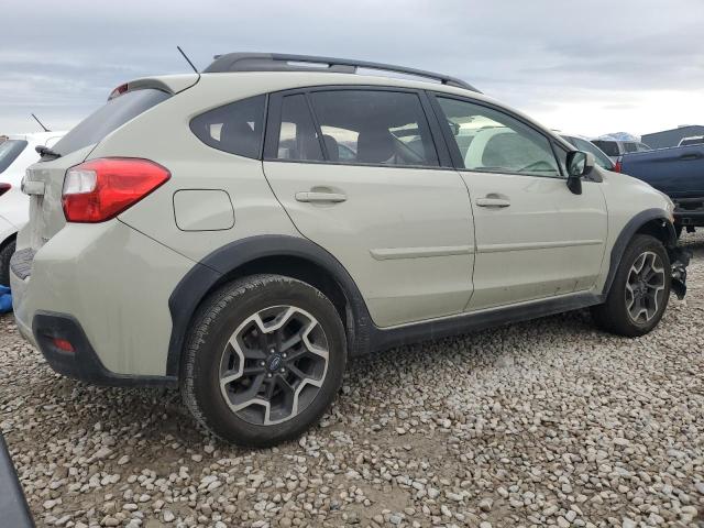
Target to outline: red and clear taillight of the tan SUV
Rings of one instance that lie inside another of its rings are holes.
[[[160,164],[130,157],[91,160],[66,172],[62,204],[68,222],[117,217],[170,177]]]

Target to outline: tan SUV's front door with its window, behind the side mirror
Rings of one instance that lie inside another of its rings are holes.
[[[516,117],[479,101],[440,95],[435,101],[474,209],[468,310],[592,288],[606,242],[600,184],[584,182],[582,194],[572,194],[557,142]]]

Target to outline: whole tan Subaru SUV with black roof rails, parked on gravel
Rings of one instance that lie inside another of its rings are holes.
[[[22,333],[69,376],[180,384],[249,446],[318,420],[350,356],[585,307],[640,336],[684,294],[664,195],[389,65],[230,54],[128,82],[23,188]]]

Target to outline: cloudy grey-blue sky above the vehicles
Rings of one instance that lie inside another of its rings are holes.
[[[704,124],[702,0],[4,0],[0,133],[54,130],[121,82],[217,53],[331,55],[451,74],[548,127]]]

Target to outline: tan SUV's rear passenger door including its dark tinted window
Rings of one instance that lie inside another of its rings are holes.
[[[424,98],[359,87],[271,97],[266,178],[296,228],[349,271],[380,327],[460,314],[472,293],[468,190],[436,148]]]

